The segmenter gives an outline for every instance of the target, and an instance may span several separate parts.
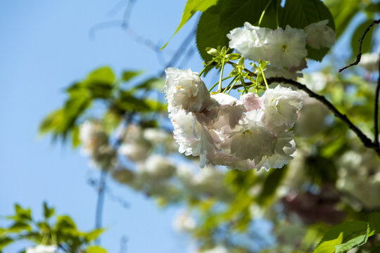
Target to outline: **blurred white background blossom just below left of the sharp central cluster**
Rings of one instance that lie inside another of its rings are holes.
[[[153,179],[167,179],[175,174],[175,165],[162,155],[151,155],[144,162],[139,164],[139,172],[146,172]]]

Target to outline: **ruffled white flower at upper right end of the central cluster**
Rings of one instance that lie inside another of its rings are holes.
[[[298,110],[302,108],[300,93],[281,86],[267,89],[261,99],[264,105],[265,124],[272,130],[278,126],[282,126],[281,129],[284,126],[290,129],[298,117]]]

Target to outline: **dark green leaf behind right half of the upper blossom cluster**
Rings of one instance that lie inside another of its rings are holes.
[[[329,8],[319,0],[286,0],[284,9],[281,14],[281,27],[285,28],[290,25],[293,28],[303,29],[313,22],[329,20],[327,24],[335,31],[334,18]],[[308,58],[321,61],[329,51],[328,48],[319,50],[306,46],[308,49]]]

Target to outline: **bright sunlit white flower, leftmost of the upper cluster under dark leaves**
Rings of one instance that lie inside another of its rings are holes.
[[[235,28],[227,37],[230,39],[229,47],[235,48],[244,58],[258,61],[264,59],[267,54],[267,34],[272,30],[263,27],[255,27],[248,22],[244,27]]]

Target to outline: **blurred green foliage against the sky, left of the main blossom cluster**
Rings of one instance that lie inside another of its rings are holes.
[[[80,145],[79,125],[84,120],[87,110],[95,102],[110,105],[110,114],[115,122],[120,122],[126,114],[141,112],[163,112],[166,104],[141,96],[141,91],[161,89],[163,79],[148,78],[141,83],[129,84],[123,88],[121,83],[131,82],[141,71],[125,71],[120,80],[116,79],[110,67],[101,67],[87,75],[85,79],[76,82],[66,89],[68,99],[62,108],[51,112],[39,126],[40,134],[52,134],[53,140],[61,138],[72,139],[72,147]],[[144,93],[143,93],[144,95]]]

